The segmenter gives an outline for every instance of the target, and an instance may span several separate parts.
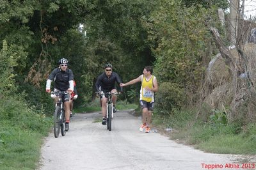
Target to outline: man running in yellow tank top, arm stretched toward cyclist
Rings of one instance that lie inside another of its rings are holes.
[[[121,83],[120,87],[128,86],[136,82],[141,82],[140,89],[140,105],[142,108],[142,125],[140,131],[145,130],[146,133],[150,132],[150,123],[152,118],[152,111],[154,107],[154,92],[158,91],[157,80],[153,73],[151,66],[145,66],[143,74],[137,79],[132,81]]]

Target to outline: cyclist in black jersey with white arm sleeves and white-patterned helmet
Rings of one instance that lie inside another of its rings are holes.
[[[55,68],[49,75],[46,82],[46,92],[51,93],[51,82],[54,81],[54,91],[68,91],[67,95],[64,95],[62,98],[65,101],[65,130],[69,130],[69,121],[70,121],[70,95],[74,91],[74,75],[72,70],[68,69],[68,60],[61,58],[59,60],[59,67]],[[55,102],[56,102],[55,98]]]

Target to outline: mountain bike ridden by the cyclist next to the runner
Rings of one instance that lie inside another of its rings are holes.
[[[111,131],[112,129],[112,120],[114,118],[114,112],[113,112],[113,102],[112,102],[112,97],[113,95],[119,95],[120,92],[115,92],[115,93],[111,93],[111,91],[106,92],[106,93],[102,93],[102,92],[96,92],[97,94],[101,95],[101,96],[105,96],[106,98],[108,98],[107,104],[106,104],[106,118],[107,118],[107,128],[109,131]]]

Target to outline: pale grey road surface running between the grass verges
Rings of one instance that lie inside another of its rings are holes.
[[[158,133],[138,130],[141,120],[118,111],[112,131],[99,112],[76,114],[65,137],[45,139],[40,169],[237,169],[230,155],[204,153]],[[229,165],[229,168],[225,166]],[[231,168],[231,167],[234,168]],[[210,168],[209,168],[210,167]],[[215,168],[214,168],[215,169]],[[217,168],[216,168],[217,169]]]

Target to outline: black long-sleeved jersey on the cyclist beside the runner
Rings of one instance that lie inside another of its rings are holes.
[[[116,72],[112,72],[111,76],[108,77],[106,73],[102,73],[97,78],[97,81],[95,83],[97,91],[104,91],[108,92],[112,89],[115,89],[115,82],[118,82],[118,84],[122,83],[119,75]],[[101,87],[101,88],[100,88]],[[123,91],[123,88],[121,87],[120,91]]]

